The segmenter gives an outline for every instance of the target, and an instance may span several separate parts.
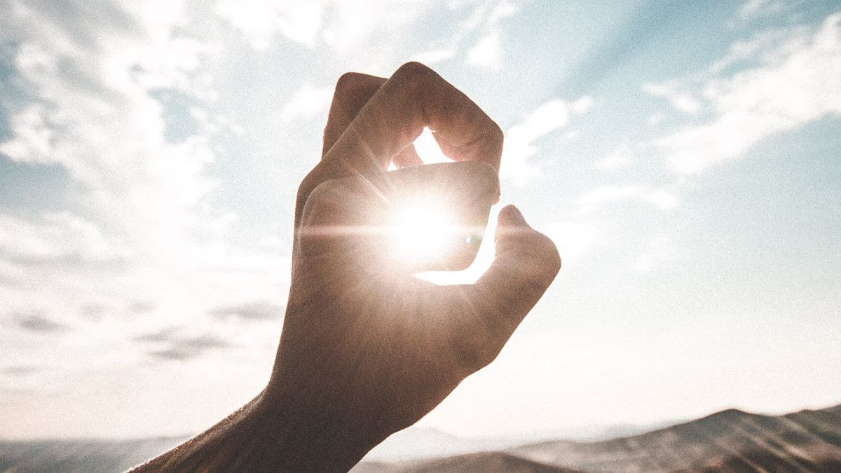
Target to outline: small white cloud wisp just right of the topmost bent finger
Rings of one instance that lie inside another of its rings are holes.
[[[525,120],[511,126],[505,133],[500,178],[525,183],[535,176],[538,169],[528,159],[537,153],[536,141],[568,125],[574,115],[583,114],[592,103],[590,97],[582,97],[574,102],[555,98],[537,107]]]

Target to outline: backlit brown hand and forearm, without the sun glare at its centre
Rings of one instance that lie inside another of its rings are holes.
[[[428,67],[339,79],[322,159],[299,187],[289,300],[266,388],[135,471],[346,471],[495,359],[561,265],[514,206],[500,210],[495,260],[475,284],[431,284],[383,263],[364,233],[325,231],[372,223],[361,209],[377,196],[362,183],[392,162],[420,164],[410,145],[424,126],[448,157],[499,169],[499,126]],[[360,184],[333,180],[347,177]]]

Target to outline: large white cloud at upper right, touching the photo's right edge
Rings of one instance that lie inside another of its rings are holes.
[[[781,47],[763,66],[706,84],[715,120],[657,141],[675,171],[697,173],[738,159],[767,136],[841,113],[841,13]]]

